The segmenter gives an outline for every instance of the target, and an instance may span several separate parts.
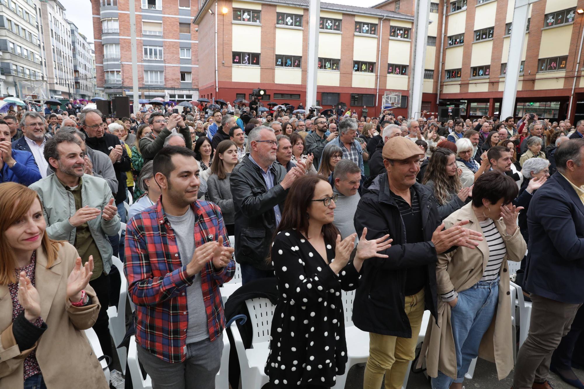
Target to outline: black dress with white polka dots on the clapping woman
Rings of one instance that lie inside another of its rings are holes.
[[[335,258],[326,244],[329,262]],[[279,232],[272,245],[279,300],[270,332],[265,373],[277,388],[332,387],[345,373],[347,345],[342,290],[357,287],[353,263],[339,272],[329,268],[300,232]]]

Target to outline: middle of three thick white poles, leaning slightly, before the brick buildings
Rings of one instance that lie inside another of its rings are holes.
[[[424,68],[426,62],[426,41],[428,36],[428,20],[430,18],[430,0],[416,0],[414,16],[414,46],[412,53],[412,68],[409,75],[409,110],[408,116],[413,117],[422,109],[422,91],[424,85]]]

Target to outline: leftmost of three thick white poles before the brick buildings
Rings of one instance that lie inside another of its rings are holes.
[[[318,22],[321,0],[308,1],[308,61],[306,62],[306,110],[317,103]]]

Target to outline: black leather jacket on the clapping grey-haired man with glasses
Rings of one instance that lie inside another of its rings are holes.
[[[274,206],[279,206],[281,213],[288,193],[280,185],[286,176],[284,166],[274,162],[270,170],[275,177],[274,186],[267,190],[259,166],[247,154],[230,177],[235,208],[235,258],[260,270],[272,269],[266,258],[276,230]]]

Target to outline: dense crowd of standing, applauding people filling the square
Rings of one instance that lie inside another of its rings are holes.
[[[463,388],[477,356],[501,380],[513,276],[533,301],[513,388],[551,389],[550,370],[584,388],[571,367],[584,343],[584,120],[256,115],[254,102],[0,116],[0,387],[107,388],[81,331],[114,355],[117,256],[154,388],[214,387],[236,259],[246,293],[277,295],[270,387],[332,387],[345,372],[343,290],[370,337],[364,388],[402,387],[425,310],[416,365],[433,389]]]

